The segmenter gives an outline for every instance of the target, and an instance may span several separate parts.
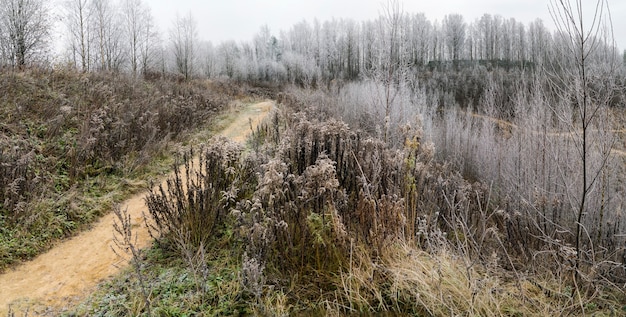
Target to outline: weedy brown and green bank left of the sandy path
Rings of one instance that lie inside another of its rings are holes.
[[[0,73],[0,272],[89,227],[228,120],[241,89]],[[207,132],[208,131],[208,132]]]

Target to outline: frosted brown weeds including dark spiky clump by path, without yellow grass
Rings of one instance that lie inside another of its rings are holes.
[[[485,188],[435,164],[432,145],[420,143],[418,131],[407,130],[405,149],[395,150],[343,122],[297,113],[261,125],[251,142],[263,146],[244,155],[217,140],[200,163],[188,153],[184,167],[147,201],[166,237],[191,232],[183,236],[202,237],[188,239],[197,247],[236,231],[245,246],[243,283],[257,299],[264,271],[303,276],[326,289],[331,279],[316,276],[347,271],[356,248],[375,260],[398,241],[431,249],[433,235],[445,240],[444,232],[469,235],[463,230],[470,224],[497,225],[480,218]]]

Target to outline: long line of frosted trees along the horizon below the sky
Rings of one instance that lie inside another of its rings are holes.
[[[556,47],[566,41],[540,19],[524,24],[484,14],[467,21],[460,14],[449,14],[431,21],[423,13],[403,12],[397,1],[390,1],[374,20],[302,21],[278,35],[262,26],[250,41],[214,45],[199,38],[191,13],[176,16],[162,34],[147,1],[65,0],[63,49],[52,53],[54,16],[48,2],[0,0],[0,5],[2,65],[56,61],[81,71],[134,75],[306,85],[371,78],[384,65],[532,68],[555,58]],[[397,16],[390,20],[392,11]],[[603,52],[617,59],[616,47],[609,44]]]

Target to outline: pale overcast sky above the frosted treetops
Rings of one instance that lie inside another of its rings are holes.
[[[592,4],[594,1],[583,0]],[[176,14],[193,14],[201,39],[218,44],[226,40],[248,41],[262,25],[268,25],[272,34],[288,30],[297,22],[320,22],[334,18],[356,21],[379,16],[384,3],[381,0],[145,0],[161,26],[163,34],[172,25]],[[550,29],[553,23],[548,11],[548,0],[405,0],[407,13],[424,13],[431,20],[441,21],[446,14],[460,13],[466,22],[473,22],[485,13],[513,17],[528,24],[537,18]],[[618,47],[626,47],[626,1],[609,0],[615,40]]]

